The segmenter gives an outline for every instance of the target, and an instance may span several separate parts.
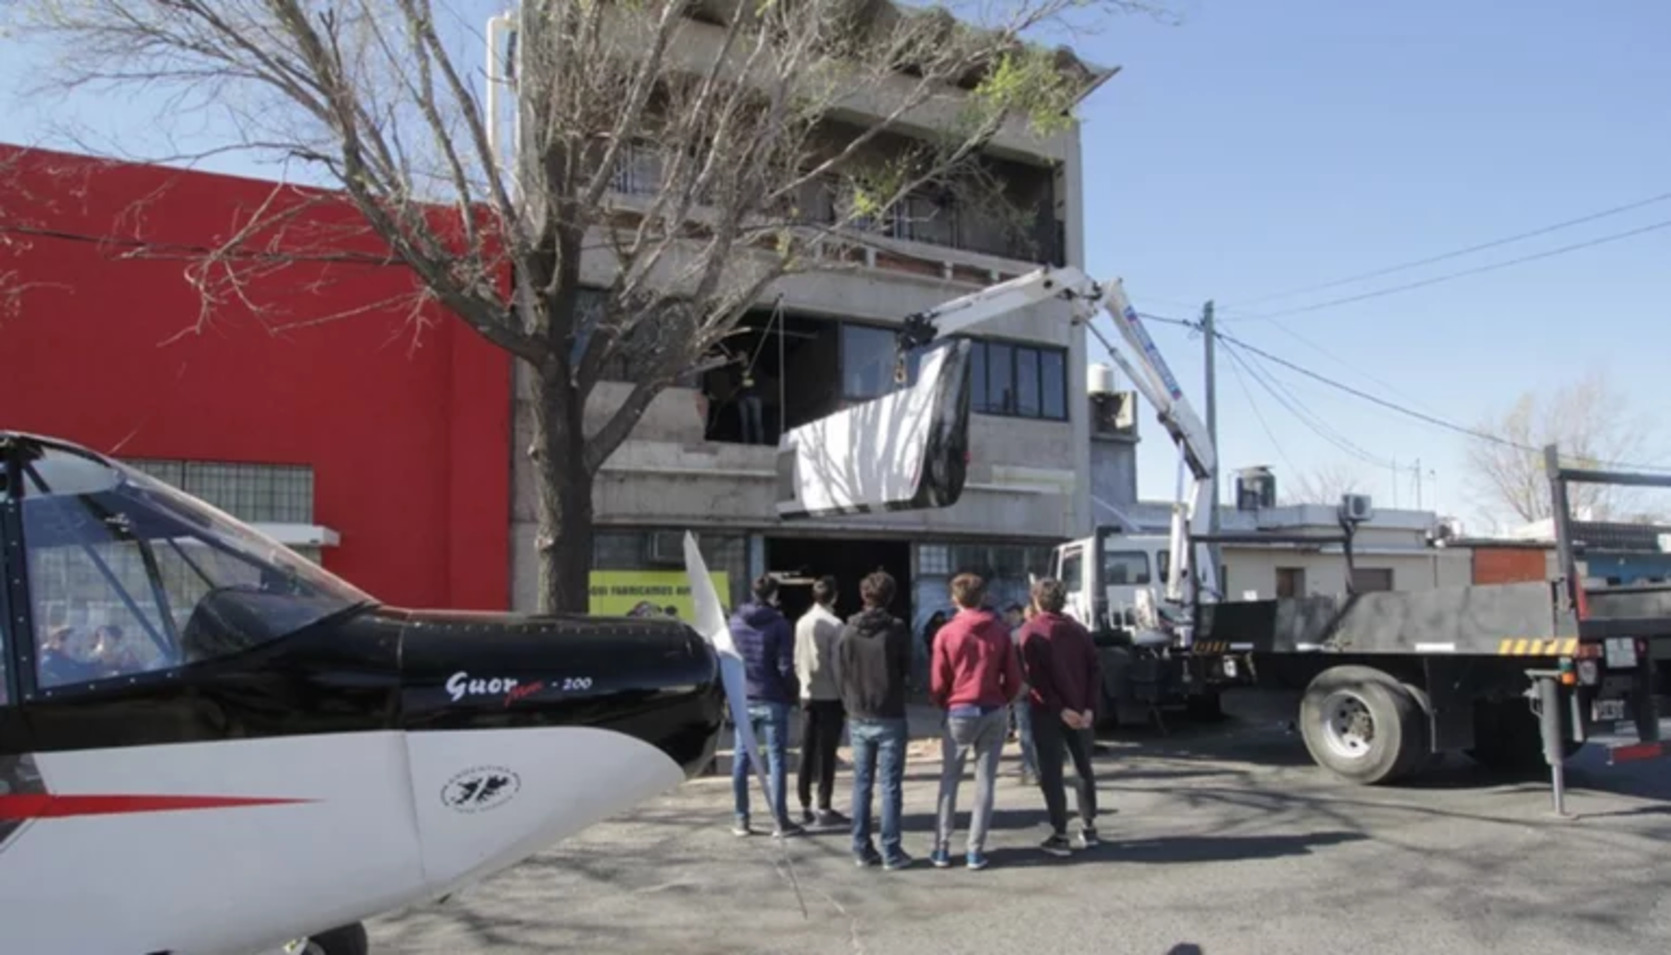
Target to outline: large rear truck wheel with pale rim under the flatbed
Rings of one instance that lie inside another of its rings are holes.
[[[1318,766],[1354,783],[1389,783],[1424,748],[1422,708],[1392,676],[1369,666],[1317,675],[1300,701],[1300,735]]]

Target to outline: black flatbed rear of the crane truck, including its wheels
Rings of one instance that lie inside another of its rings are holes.
[[[1587,586],[1567,486],[1671,488],[1671,474],[1562,467],[1552,446],[1544,456],[1556,579],[1203,603],[1186,683],[1298,693],[1312,758],[1360,783],[1462,750],[1487,766],[1549,765],[1559,806],[1561,765],[1586,743],[1609,763],[1664,756],[1654,648],[1671,641],[1671,586]]]

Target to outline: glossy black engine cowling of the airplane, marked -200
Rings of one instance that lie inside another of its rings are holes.
[[[677,619],[413,613],[401,628],[404,730],[588,726],[633,736],[685,773],[712,758],[719,658]]]

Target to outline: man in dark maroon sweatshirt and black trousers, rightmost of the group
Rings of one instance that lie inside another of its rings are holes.
[[[1039,790],[1049,813],[1051,835],[1039,848],[1064,856],[1068,798],[1063,793],[1063,748],[1079,776],[1079,848],[1096,845],[1096,775],[1091,771],[1091,728],[1101,696],[1103,675],[1091,634],[1063,614],[1068,591],[1056,579],[1033,584],[1033,619],[1021,628],[1021,670],[1031,688],[1033,743],[1038,748]]]

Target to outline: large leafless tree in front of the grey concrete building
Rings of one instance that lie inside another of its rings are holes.
[[[1034,28],[1148,10],[523,0],[501,162],[481,33],[431,0],[23,7],[60,42],[53,82],[177,88],[226,114],[219,149],[324,170],[424,299],[526,366],[546,609],[585,608],[593,476],[660,391],[777,280],[854,267],[866,227],[919,187],[991,194],[981,152],[1001,130],[1066,129],[1095,77],[1026,43]],[[281,267],[274,235],[304,205],[274,202],[206,255],[206,304],[244,296],[252,262]],[[622,366],[628,394],[588,429]]]

